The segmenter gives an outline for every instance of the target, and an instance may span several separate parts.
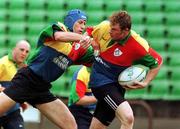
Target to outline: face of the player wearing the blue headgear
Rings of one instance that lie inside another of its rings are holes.
[[[86,20],[80,19],[74,23],[73,32],[82,34],[86,27]]]

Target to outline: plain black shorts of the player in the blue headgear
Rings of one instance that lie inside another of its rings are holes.
[[[12,86],[3,92],[18,103],[35,106],[57,99],[51,92],[51,84],[42,80],[28,67],[20,69],[12,79]]]

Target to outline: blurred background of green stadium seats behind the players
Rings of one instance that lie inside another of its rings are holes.
[[[30,41],[34,49],[38,35],[46,25],[54,21],[63,22],[66,12],[76,8],[87,13],[87,25],[96,25],[108,19],[114,11],[129,12],[132,29],[147,39],[164,59],[162,69],[149,87],[131,90],[126,94],[135,114],[135,129],[179,129],[179,0],[1,0],[0,57],[21,39]],[[60,79],[52,83],[52,92],[65,103],[71,77],[78,67],[70,67]],[[32,108],[23,115],[27,129],[57,129]],[[116,128],[119,125],[115,120],[109,129]]]

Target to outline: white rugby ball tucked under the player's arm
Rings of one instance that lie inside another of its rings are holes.
[[[147,75],[148,68],[144,65],[133,65],[122,71],[118,77],[121,86],[133,85],[134,81],[143,81]]]

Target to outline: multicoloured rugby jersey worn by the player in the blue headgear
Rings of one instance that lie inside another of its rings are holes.
[[[93,57],[92,48],[82,54],[81,48],[76,47],[78,44],[56,41],[54,33],[57,31],[68,30],[64,24],[57,22],[40,32],[36,51],[28,61],[29,68],[46,82],[56,80],[73,62],[78,63],[79,60],[82,63]]]

